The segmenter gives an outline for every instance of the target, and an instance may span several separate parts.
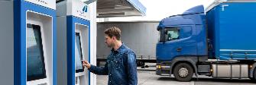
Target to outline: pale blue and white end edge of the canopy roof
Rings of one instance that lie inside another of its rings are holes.
[[[146,8],[144,7],[144,5],[141,4],[141,2],[139,2],[138,0],[127,0],[128,2],[131,3],[131,5],[134,6],[134,8],[136,8],[138,11],[141,12],[141,14],[146,15]]]

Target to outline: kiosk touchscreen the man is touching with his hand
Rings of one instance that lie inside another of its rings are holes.
[[[76,39],[75,39],[75,67],[76,67],[76,73],[83,72],[83,54],[82,54],[82,48],[81,48],[81,41],[80,41],[80,35],[79,33],[76,33]]]

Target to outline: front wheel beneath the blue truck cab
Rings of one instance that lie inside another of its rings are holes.
[[[193,77],[193,73],[193,68],[186,63],[180,63],[173,69],[175,79],[182,82],[190,81]]]

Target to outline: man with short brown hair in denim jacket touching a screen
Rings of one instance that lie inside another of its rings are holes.
[[[109,85],[137,85],[135,53],[121,41],[121,30],[110,27],[105,30],[105,43],[112,48],[105,67],[99,68],[83,61],[83,66],[94,74],[109,74]]]

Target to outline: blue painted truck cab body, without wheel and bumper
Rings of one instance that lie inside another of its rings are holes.
[[[171,61],[178,56],[206,56],[206,26],[203,5],[160,21],[157,61]]]

